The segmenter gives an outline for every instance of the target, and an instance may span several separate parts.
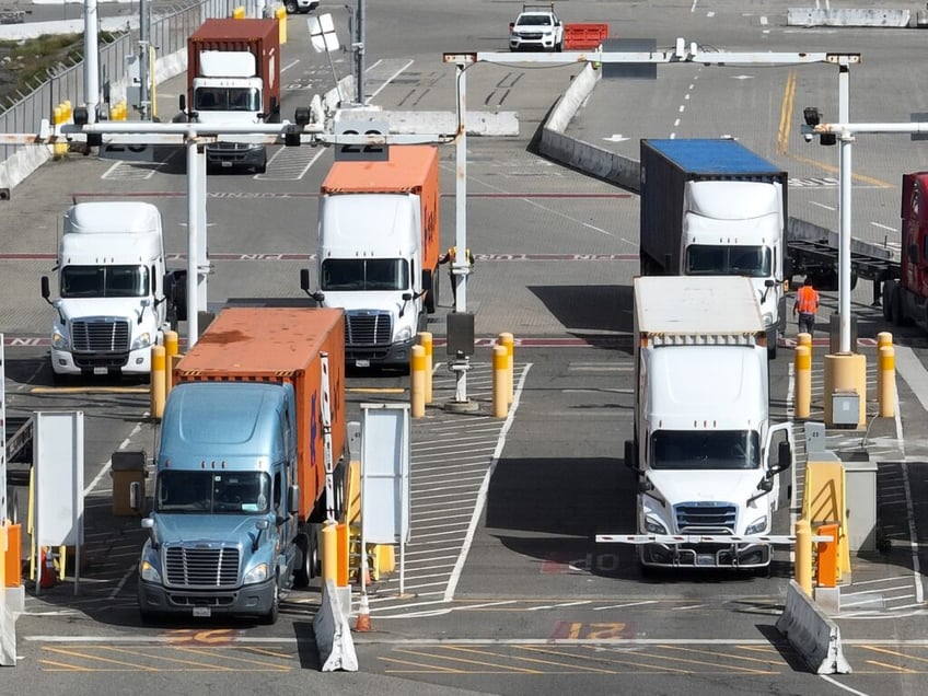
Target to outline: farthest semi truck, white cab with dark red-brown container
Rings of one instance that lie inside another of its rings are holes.
[[[187,39],[187,94],[179,120],[201,124],[280,121],[280,25],[274,20],[210,19]],[[267,148],[248,142],[207,147],[207,164],[264,172]]]

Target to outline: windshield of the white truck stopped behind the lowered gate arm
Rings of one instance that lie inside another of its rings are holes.
[[[747,430],[658,430],[651,436],[651,468],[758,468],[759,434]]]

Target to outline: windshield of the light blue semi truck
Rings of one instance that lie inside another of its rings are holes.
[[[156,512],[201,514],[267,512],[270,478],[262,472],[163,471],[154,491]]]

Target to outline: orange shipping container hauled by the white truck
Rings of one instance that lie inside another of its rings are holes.
[[[422,268],[438,269],[439,172],[436,146],[390,146],[386,162],[336,162],[322,184],[323,195],[413,194],[422,219]],[[438,279],[434,280],[438,282]]]

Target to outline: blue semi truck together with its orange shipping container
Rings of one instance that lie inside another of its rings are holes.
[[[316,575],[321,523],[345,499],[344,334],[340,310],[228,308],[177,364],[142,520],[142,618],[272,624]]]

